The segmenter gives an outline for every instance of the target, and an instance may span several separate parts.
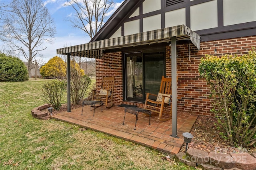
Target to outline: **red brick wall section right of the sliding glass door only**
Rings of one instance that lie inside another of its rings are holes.
[[[210,111],[212,101],[208,98],[210,88],[207,86],[204,79],[200,78],[198,65],[200,64],[200,59],[205,57],[206,54],[214,55],[215,44],[217,45],[216,56],[226,54],[242,55],[248,53],[252,47],[256,47],[256,36],[203,42],[200,44],[200,51],[190,43],[190,57],[188,54],[188,44],[178,45],[177,110],[203,115],[213,115]],[[170,50],[170,47],[167,47],[166,55],[170,56]],[[170,57],[166,57],[166,61],[168,62],[166,75],[170,76]]]

